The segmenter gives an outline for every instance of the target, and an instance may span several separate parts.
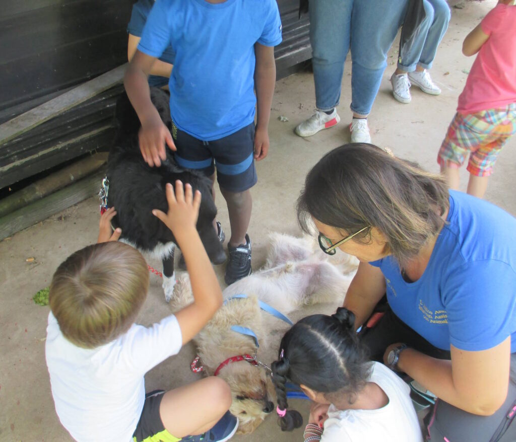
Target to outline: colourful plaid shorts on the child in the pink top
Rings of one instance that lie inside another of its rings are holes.
[[[457,169],[470,152],[467,171],[476,176],[489,176],[505,142],[515,133],[516,103],[502,109],[482,110],[467,115],[456,113],[439,150],[437,162],[441,166]]]

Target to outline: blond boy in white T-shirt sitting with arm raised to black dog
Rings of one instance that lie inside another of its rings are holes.
[[[196,442],[230,439],[238,426],[231,392],[205,378],[146,395],[144,374],[176,354],[222,303],[222,292],[196,230],[201,194],[189,184],[166,187],[168,213],[154,210],[184,253],[194,301],[151,327],[134,323],[147,297],[149,272],[141,254],[117,242],[107,211],[100,243],[73,253],[50,286],[46,363],[57,415],[82,441]],[[102,242],[108,241],[108,242]],[[193,435],[193,436],[188,436]]]

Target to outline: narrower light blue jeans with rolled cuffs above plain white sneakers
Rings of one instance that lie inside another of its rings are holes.
[[[430,69],[436,58],[437,47],[448,29],[450,8],[446,0],[423,0],[423,6],[426,18],[421,25],[421,32],[398,60],[398,68],[405,72],[415,71],[417,64]]]

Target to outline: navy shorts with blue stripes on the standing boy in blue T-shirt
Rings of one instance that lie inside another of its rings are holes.
[[[254,123],[213,141],[192,137],[172,123],[172,138],[178,148],[178,164],[206,176],[212,176],[216,168],[217,182],[223,190],[243,192],[258,181],[254,167]]]

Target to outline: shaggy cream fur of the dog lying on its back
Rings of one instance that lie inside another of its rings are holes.
[[[303,305],[343,301],[350,273],[356,269],[353,258],[339,263],[348,273],[344,275],[330,264],[328,255],[322,253],[318,245],[314,247],[312,239],[272,234],[269,244],[265,267],[223,291],[224,299],[240,293],[247,294],[248,298],[225,303],[195,338],[204,372],[208,375],[214,374],[219,364],[229,357],[254,354],[252,338],[232,331],[232,325],[243,325],[254,331],[260,342],[258,359],[270,362],[276,358],[279,340],[288,324],[263,312],[258,299],[285,315]],[[173,307],[179,309],[189,304],[191,296],[188,275],[181,275],[175,286]],[[219,376],[231,387],[230,411],[240,421],[239,433],[254,431],[267,414],[275,410],[272,404],[275,392],[265,368],[234,362],[225,366]]]

